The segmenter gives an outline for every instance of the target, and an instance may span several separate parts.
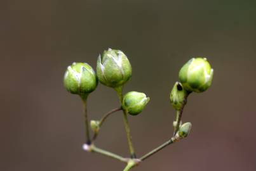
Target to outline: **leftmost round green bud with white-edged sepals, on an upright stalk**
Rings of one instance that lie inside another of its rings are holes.
[[[88,94],[94,91],[98,81],[93,68],[88,63],[72,63],[67,67],[64,86],[72,94]]]

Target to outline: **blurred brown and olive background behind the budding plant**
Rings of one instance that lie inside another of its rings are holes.
[[[151,97],[129,117],[137,155],[172,136],[170,89],[179,68],[207,57],[215,75],[192,94],[187,139],[134,170],[256,170],[256,1],[9,0],[0,2],[0,170],[122,170],[123,163],[86,153],[81,101],[62,79],[73,61],[95,68],[104,49],[121,49],[133,66],[127,91]],[[91,119],[116,108],[98,85]],[[97,146],[128,156],[121,112],[105,123]]]

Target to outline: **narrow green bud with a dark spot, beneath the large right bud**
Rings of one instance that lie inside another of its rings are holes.
[[[175,110],[180,110],[185,105],[185,98],[188,92],[183,88],[180,82],[175,82],[172,92],[170,94],[170,101]]]

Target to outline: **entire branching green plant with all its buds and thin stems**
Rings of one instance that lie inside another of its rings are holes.
[[[97,75],[97,76],[96,76]],[[145,155],[137,158],[131,138],[130,125],[128,122],[128,113],[138,115],[144,110],[149,98],[143,92],[131,91],[123,96],[124,84],[131,77],[131,65],[122,51],[109,49],[104,51],[102,56],[98,57],[97,73],[93,71],[87,63],[73,63],[67,68],[64,77],[64,86],[67,91],[73,94],[79,94],[83,101],[84,107],[84,125],[85,125],[85,143],[83,149],[90,153],[98,153],[119,162],[126,163],[123,171],[130,171],[132,168],[144,162],[147,158],[158,153],[162,149],[173,143],[179,142],[180,139],[187,137],[191,131],[191,123],[182,124],[182,113],[187,103],[187,98],[191,92],[203,92],[210,87],[213,79],[213,69],[206,58],[192,58],[179,72],[180,82],[176,82],[170,93],[170,102],[176,110],[176,117],[173,121],[173,136],[168,137],[167,141],[160,144]],[[89,123],[87,114],[88,94],[97,87],[97,80],[108,87],[114,88],[118,94],[120,104],[117,108],[105,113],[100,120],[91,120]],[[123,121],[125,125],[126,137],[130,157],[123,156],[98,148],[95,145],[98,134],[102,130],[102,124],[109,118],[112,113],[123,111]],[[93,130],[93,136],[90,136],[90,129]]]

